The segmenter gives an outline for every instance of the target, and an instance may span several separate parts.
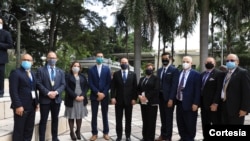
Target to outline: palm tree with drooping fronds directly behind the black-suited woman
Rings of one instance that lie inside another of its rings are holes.
[[[154,35],[154,9],[151,0],[125,0],[124,16],[127,24],[134,29],[134,67],[137,80],[141,76],[142,36],[149,35],[152,42]]]

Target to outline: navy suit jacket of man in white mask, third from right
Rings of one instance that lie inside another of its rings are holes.
[[[201,81],[200,73],[191,69],[186,81],[186,85],[182,90],[183,100],[182,107],[185,111],[191,111],[192,105],[200,105]]]

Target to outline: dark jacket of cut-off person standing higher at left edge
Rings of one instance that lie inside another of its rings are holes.
[[[13,47],[11,34],[3,29],[0,29],[0,64],[8,63],[7,50]]]

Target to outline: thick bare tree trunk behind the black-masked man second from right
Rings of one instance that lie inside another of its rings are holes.
[[[209,0],[201,2],[200,15],[200,71],[204,71],[204,62],[208,57],[208,24],[209,24]]]

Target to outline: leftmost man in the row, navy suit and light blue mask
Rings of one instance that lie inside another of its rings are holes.
[[[12,141],[31,141],[38,95],[36,92],[36,77],[31,72],[33,59],[24,54],[21,67],[12,70],[9,77],[11,108],[14,112],[14,130]]]

